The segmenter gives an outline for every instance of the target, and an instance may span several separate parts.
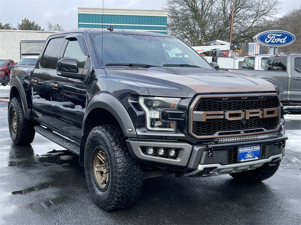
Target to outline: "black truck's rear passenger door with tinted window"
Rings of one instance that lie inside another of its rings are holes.
[[[43,52],[39,65],[31,76],[33,116],[51,125],[51,78],[56,74],[57,60],[65,42],[64,37],[53,38]]]

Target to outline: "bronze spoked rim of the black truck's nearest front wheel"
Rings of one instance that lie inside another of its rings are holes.
[[[104,148],[97,146],[93,156],[93,176],[97,186],[104,189],[109,182],[109,165]]]

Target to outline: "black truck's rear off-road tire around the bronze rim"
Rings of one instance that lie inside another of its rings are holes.
[[[16,112],[17,130],[13,129],[12,117]],[[24,118],[24,112],[21,99],[14,97],[11,99],[8,107],[8,128],[11,140],[15,145],[26,145],[33,142],[36,131],[35,123]]]

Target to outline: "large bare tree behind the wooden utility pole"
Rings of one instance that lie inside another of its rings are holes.
[[[189,44],[229,41],[232,0],[166,0],[168,33]],[[280,26],[271,16],[279,0],[235,0],[232,43],[248,42],[259,32]]]

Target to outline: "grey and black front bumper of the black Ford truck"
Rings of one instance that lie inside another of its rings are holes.
[[[287,137],[284,135],[284,129],[277,138],[264,140],[244,141],[236,143],[223,143],[218,145],[191,145],[184,142],[175,141],[156,141],[156,140],[127,140],[126,143],[129,151],[135,160],[148,165],[169,168],[172,170],[182,171],[178,173],[179,177],[186,176],[215,176],[226,173],[234,173],[244,170],[252,170],[262,166],[265,163],[277,161],[285,155],[285,141]],[[231,160],[231,154],[237,151],[237,146],[245,146],[252,144],[262,144],[261,158],[248,162],[235,162],[235,157]],[[153,155],[145,155],[144,147],[153,148],[175,148],[178,149],[178,157],[163,158]],[[211,152],[212,156],[209,157]]]

